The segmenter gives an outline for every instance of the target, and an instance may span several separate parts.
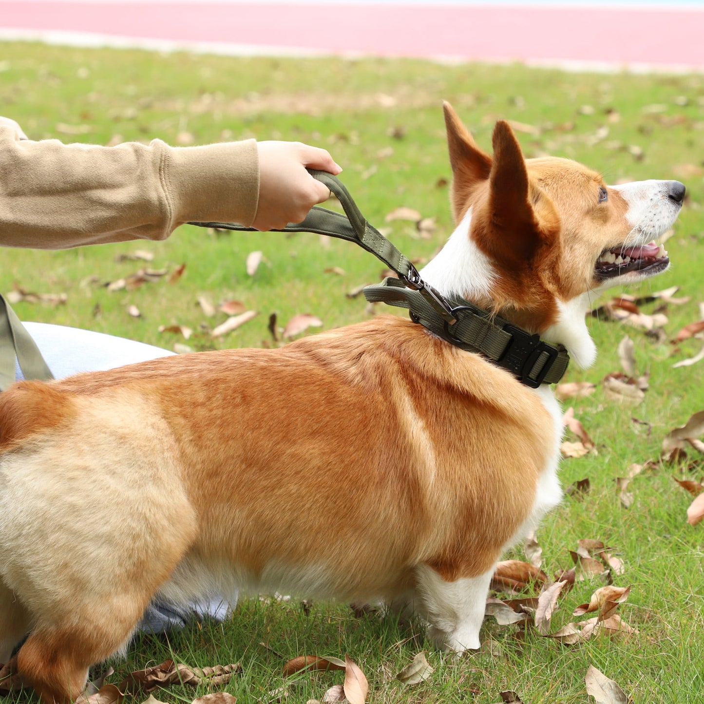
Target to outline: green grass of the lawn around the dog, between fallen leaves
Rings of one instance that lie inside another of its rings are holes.
[[[536,127],[520,132],[527,156],[551,153],[583,161],[608,182],[678,178],[689,198],[667,248],[672,269],[643,285],[647,293],[672,285],[691,296],[669,306],[668,337],[698,319],[704,299],[704,76],[577,75],[530,70],[521,65],[444,66],[422,61],[313,61],[272,58],[218,58],[139,51],[61,49],[36,44],[3,44],[0,104],[35,139],[61,137],[56,126],[88,125],[75,139],[105,144],[115,134],[175,142],[189,132],[197,143],[239,139],[295,139],[326,146],[344,166],[343,180],[371,222],[397,206],[412,206],[437,220],[432,239],[418,239],[408,223],[395,222],[390,237],[410,256],[427,258],[451,232],[447,188],[450,176],[444,144],[441,100],[448,99],[489,149],[497,118]],[[587,106],[586,108],[582,106]],[[657,106],[657,107],[653,107]],[[615,115],[618,116],[616,120]],[[608,128],[608,134],[604,134]],[[382,150],[393,149],[380,157]],[[638,149],[642,150],[642,153]],[[175,284],[144,284],[110,292],[101,284],[129,275],[143,263],[115,261],[120,253],[149,249],[149,266],[186,263]],[[246,274],[247,254],[260,249],[265,263]],[[342,276],[325,273],[339,266]],[[316,235],[218,235],[183,227],[162,243],[134,242],[63,252],[6,250],[0,290],[17,284],[39,294],[65,293],[64,306],[18,303],[20,318],[87,327],[168,348],[182,339],[160,334],[160,325],[187,325],[196,333],[187,344],[210,347],[270,344],[267,322],[279,324],[296,313],[313,313],[324,329],[367,318],[365,302],[346,291],[379,279],[375,258],[341,241],[322,246]],[[210,339],[224,314],[206,319],[196,297],[217,303],[237,299],[259,315],[236,332]],[[136,305],[142,318],[131,318]],[[650,312],[654,304],[646,306]],[[203,327],[204,326],[204,327]],[[690,497],[662,467],[639,475],[631,485],[635,501],[621,507],[614,479],[634,462],[658,456],[662,436],[704,408],[704,362],[673,369],[693,356],[700,341],[674,348],[619,323],[593,320],[600,350],[594,367],[570,369],[568,380],[599,382],[618,369],[618,341],[629,334],[641,370],[650,372],[646,400],[635,408],[607,401],[601,387],[589,398],[570,401],[596,441],[598,455],[562,463],[565,485],[589,477],[582,501],[566,498],[539,532],[552,574],[570,562],[567,549],[577,539],[598,538],[625,563],[617,584],[631,584],[623,617],[639,634],[628,640],[595,639],[561,646],[536,634],[518,639],[513,627],[485,623],[484,641],[494,647],[456,662],[432,650],[420,624],[356,620],[341,606],[315,604],[309,616],[298,604],[243,601],[232,620],[170,636],[143,637],[130,648],[128,662],[115,663],[118,676],[134,667],[173,657],[191,665],[241,662],[244,674],[227,686],[240,702],[265,698],[282,686],[283,658],[349,653],[370,679],[370,700],[385,703],[436,700],[489,704],[499,691],[514,689],[526,702],[582,703],[590,700],[584,674],[590,664],[615,679],[638,702],[701,703],[704,700],[704,528],[690,527]],[[646,421],[638,425],[631,417]],[[701,468],[701,464],[699,467]],[[692,478],[698,478],[693,472]],[[520,556],[520,551],[517,553]],[[96,565],[99,569],[99,565]],[[562,601],[555,628],[572,620],[572,609],[589,601],[598,584],[580,583]],[[436,667],[432,679],[412,689],[394,681],[398,670],[421,649]],[[119,681],[118,676],[113,681]],[[390,679],[391,678],[391,679]],[[292,703],[321,698],[339,673],[307,674],[288,698]],[[478,691],[473,694],[472,691]],[[199,692],[202,693],[202,692]],[[193,692],[172,688],[158,698],[190,701]],[[18,697],[25,700],[26,696]]]

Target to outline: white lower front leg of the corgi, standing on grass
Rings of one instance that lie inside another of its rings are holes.
[[[492,565],[477,577],[447,582],[432,567],[417,567],[417,589],[425,604],[429,635],[441,648],[456,653],[479,648],[479,629],[493,574]]]

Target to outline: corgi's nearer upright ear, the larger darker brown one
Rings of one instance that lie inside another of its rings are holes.
[[[491,249],[517,265],[530,263],[560,231],[553,201],[529,182],[520,144],[508,122],[499,120],[491,137],[494,158],[489,174]]]

